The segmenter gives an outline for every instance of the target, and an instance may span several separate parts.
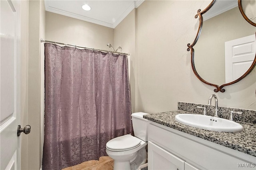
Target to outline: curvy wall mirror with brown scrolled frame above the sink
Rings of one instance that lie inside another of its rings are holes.
[[[199,80],[216,87],[214,92],[225,92],[224,86],[242,80],[255,66],[256,27],[244,20],[237,0],[213,0],[198,10],[198,17],[196,38],[187,49],[192,69]]]

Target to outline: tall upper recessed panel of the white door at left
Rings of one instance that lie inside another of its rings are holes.
[[[7,1],[1,1],[1,105],[0,121],[14,113],[15,13]],[[3,21],[2,21],[3,20]],[[8,23],[8,24],[6,24]]]

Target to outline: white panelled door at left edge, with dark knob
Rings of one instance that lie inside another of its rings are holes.
[[[20,1],[0,0],[0,169],[20,169]]]

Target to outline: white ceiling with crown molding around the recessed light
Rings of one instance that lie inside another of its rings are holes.
[[[144,0],[44,0],[45,10],[64,16],[115,28]],[[91,7],[90,11],[82,5]]]

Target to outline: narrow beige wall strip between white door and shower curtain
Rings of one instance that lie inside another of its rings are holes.
[[[28,124],[31,132],[28,135],[28,163],[22,163],[22,168],[38,170],[42,165],[42,118],[44,115],[43,86],[43,47],[40,38],[44,38],[45,10],[44,1],[29,1],[28,18]],[[22,153],[26,154],[26,153]],[[22,155],[23,156],[23,155]],[[24,155],[26,156],[26,155]]]

